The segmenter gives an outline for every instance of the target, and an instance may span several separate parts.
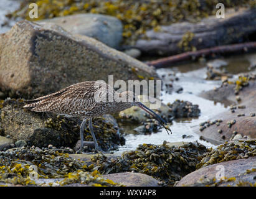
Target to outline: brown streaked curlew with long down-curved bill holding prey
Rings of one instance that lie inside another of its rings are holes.
[[[112,96],[123,98],[121,101],[110,100],[110,94]],[[105,101],[102,99],[105,99]],[[24,108],[31,108],[32,111],[50,112],[82,119],[82,124],[80,125],[81,152],[83,148],[83,131],[85,129],[87,119],[89,120],[88,127],[95,144],[95,151],[101,151],[93,132],[92,118],[102,116],[103,114],[116,113],[130,108],[131,106],[139,106],[141,109],[154,116],[154,118],[163,125],[167,132],[171,132],[166,121],[138,101],[135,93],[132,91],[123,91],[122,93],[118,93],[113,90],[113,88],[110,88],[106,83],[98,83],[97,81],[83,81],[76,83],[57,91],[56,93],[27,100],[27,102],[31,104],[25,105]]]

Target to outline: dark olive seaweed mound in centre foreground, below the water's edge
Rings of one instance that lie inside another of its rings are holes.
[[[169,147],[166,143],[159,146],[143,144],[136,150],[124,152],[121,157],[97,154],[91,160],[101,174],[138,172],[173,185],[196,169],[204,152],[206,147],[191,142],[177,147]]]

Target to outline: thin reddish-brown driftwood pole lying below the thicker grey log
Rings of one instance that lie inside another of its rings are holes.
[[[179,55],[173,55],[170,57],[159,58],[146,62],[149,66],[155,68],[170,67],[173,64],[184,62],[187,60],[196,60],[199,57],[211,57],[217,55],[227,55],[230,53],[248,52],[249,50],[256,50],[256,42],[247,42],[244,44],[230,44],[212,47],[210,49],[197,50],[195,52],[184,52]]]

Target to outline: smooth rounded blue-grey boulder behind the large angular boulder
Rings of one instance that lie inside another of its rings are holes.
[[[122,40],[123,25],[121,21],[103,14],[75,14],[37,21],[39,24],[45,22],[60,25],[72,34],[93,37],[114,49],[119,47]]]

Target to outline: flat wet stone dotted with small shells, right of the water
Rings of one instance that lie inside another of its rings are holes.
[[[251,138],[256,137],[255,117],[255,76],[240,75],[234,81],[228,80],[216,90],[202,93],[201,96],[214,101],[232,101],[229,110],[211,116],[210,121],[223,121],[216,125],[205,124],[204,126],[192,127],[199,135],[215,141],[228,141],[233,139],[236,133]],[[240,100],[237,101],[237,95]],[[209,121],[209,122],[210,122]]]

